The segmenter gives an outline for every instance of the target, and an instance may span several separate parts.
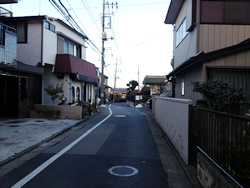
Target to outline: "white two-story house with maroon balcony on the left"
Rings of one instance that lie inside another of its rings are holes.
[[[48,16],[1,17],[17,32],[17,60],[42,67],[42,104],[52,104],[48,84],[63,86],[68,103],[95,102],[98,84],[94,64],[86,59],[86,36],[60,19]]]

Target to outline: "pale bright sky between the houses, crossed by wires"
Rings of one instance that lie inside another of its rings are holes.
[[[55,0],[58,2],[58,0]],[[103,0],[61,0],[90,40],[101,50],[101,15]],[[142,81],[146,75],[166,75],[172,68],[173,27],[164,24],[170,0],[105,0],[114,6],[105,6],[112,15],[112,29],[106,29],[106,56],[104,74],[108,85],[114,87],[115,63],[117,88],[126,88],[130,80]],[[18,4],[1,5],[14,16],[48,15],[65,20],[49,0],[19,0]],[[87,48],[87,61],[101,70],[101,55]]]

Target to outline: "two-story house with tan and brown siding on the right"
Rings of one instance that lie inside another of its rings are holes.
[[[167,78],[174,96],[202,97],[192,82],[223,80],[243,88],[250,100],[250,2],[171,0],[165,24],[174,27],[174,68]]]

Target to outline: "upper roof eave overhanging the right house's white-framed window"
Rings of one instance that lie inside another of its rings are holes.
[[[185,0],[171,0],[168,13],[166,15],[165,24],[175,24],[176,18],[181,10]]]

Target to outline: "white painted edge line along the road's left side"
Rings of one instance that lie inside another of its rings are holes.
[[[102,121],[97,123],[94,127],[89,129],[86,133],[81,135],[78,139],[76,139],[74,142],[66,146],[64,149],[62,149],[57,154],[53,155],[51,158],[49,158],[47,161],[45,161],[43,164],[41,164],[39,167],[37,167],[35,170],[33,170],[31,173],[29,173],[27,176],[25,176],[23,179],[18,181],[15,185],[13,185],[11,188],[20,188],[26,183],[28,183],[32,178],[34,178],[37,174],[42,172],[46,167],[48,167],[51,163],[53,163],[55,160],[57,160],[59,157],[61,157],[64,153],[69,151],[72,147],[74,147],[78,142],[80,142],[83,138],[85,138],[88,134],[90,134],[93,130],[95,130],[97,127],[99,127],[102,123],[104,123],[110,116],[112,115],[112,111],[110,109],[109,105],[109,115],[104,118]]]

